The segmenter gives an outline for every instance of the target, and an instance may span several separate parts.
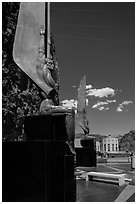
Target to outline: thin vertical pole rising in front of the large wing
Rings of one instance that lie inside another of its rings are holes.
[[[47,3],[47,58],[50,58],[50,2]]]

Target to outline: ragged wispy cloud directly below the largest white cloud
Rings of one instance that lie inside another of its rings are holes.
[[[114,100],[107,100],[107,101],[104,101],[104,102],[98,101],[96,104],[94,104],[92,106],[92,108],[96,108],[96,109],[98,109],[100,111],[102,111],[102,110],[109,110],[109,108],[105,107],[105,106],[108,105],[109,103],[115,103],[115,102],[116,102],[116,99],[114,99]]]

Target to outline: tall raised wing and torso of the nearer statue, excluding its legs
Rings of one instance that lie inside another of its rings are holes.
[[[20,4],[13,58],[45,93],[42,93],[44,97],[52,97],[55,105],[58,105],[59,70],[55,53],[54,56],[50,54],[54,45],[51,45],[50,27],[46,27],[45,8],[48,11],[44,2]]]

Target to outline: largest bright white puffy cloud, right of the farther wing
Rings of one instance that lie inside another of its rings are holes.
[[[95,96],[98,98],[108,97],[108,96],[114,96],[115,90],[109,87],[101,88],[101,89],[94,89],[89,88],[86,90],[87,96]]]

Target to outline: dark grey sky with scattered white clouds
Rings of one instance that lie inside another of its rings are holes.
[[[52,2],[51,29],[60,101],[75,102],[86,75],[90,133],[123,135],[134,130],[134,3]],[[82,132],[77,125],[76,132]]]

